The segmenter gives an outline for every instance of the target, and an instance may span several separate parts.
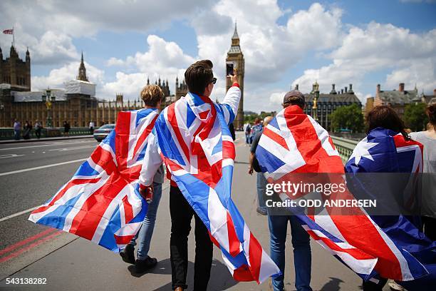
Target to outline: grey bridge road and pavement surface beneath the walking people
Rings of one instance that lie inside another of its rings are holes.
[[[256,214],[256,176],[247,174],[249,148],[237,134],[232,197],[251,231],[269,253],[266,216]],[[51,198],[87,158],[93,139],[0,146],[0,290],[171,290],[169,185],[157,213],[150,256],[157,267],[135,274],[118,254],[76,235],[35,225],[30,209]],[[38,168],[39,167],[39,168]],[[27,211],[26,211],[27,210]],[[192,228],[194,221],[192,220]],[[187,284],[192,290],[194,230],[189,240]],[[290,231],[288,231],[290,233]],[[316,242],[312,242],[313,290],[361,290],[360,279]],[[286,290],[294,290],[291,236],[286,241]],[[6,278],[43,278],[44,285],[6,285]],[[236,282],[214,247],[209,290],[270,290],[269,282]],[[385,290],[389,290],[385,287]]]

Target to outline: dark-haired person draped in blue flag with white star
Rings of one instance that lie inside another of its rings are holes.
[[[367,123],[368,136],[358,143],[345,166],[347,173],[357,174],[351,175],[353,180],[359,179],[358,173],[411,173],[412,178],[413,174],[422,173],[423,146],[408,136],[403,121],[393,108],[373,108],[368,113]],[[368,181],[365,183],[368,188]],[[407,185],[408,180],[396,183]],[[412,200],[408,199],[408,202],[412,203]],[[370,215],[369,219],[383,235],[383,240],[380,240],[380,253],[374,268],[377,275],[363,282],[363,290],[382,290],[387,278],[397,280],[409,291],[433,290],[436,284],[436,242],[421,232],[420,217]],[[395,282],[389,285],[402,290]]]

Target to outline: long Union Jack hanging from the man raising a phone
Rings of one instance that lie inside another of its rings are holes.
[[[227,94],[239,96],[239,88],[232,86]],[[172,180],[221,249],[234,279],[260,283],[280,271],[231,198],[235,147],[228,124],[233,120],[229,104],[188,93],[162,111],[155,131]]]

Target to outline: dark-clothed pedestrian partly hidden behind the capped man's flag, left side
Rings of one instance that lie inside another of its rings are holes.
[[[264,118],[264,128],[272,121],[272,116],[266,116]],[[260,215],[267,215],[266,204],[265,204],[265,192],[266,192],[266,184],[268,181],[265,178],[264,173],[262,173],[261,168],[259,167],[259,161],[256,159],[256,148],[259,144],[259,140],[264,132],[264,128],[261,129],[256,136],[253,138],[253,143],[251,143],[250,155],[249,155],[249,174],[253,175],[253,171],[257,173],[257,213]]]

